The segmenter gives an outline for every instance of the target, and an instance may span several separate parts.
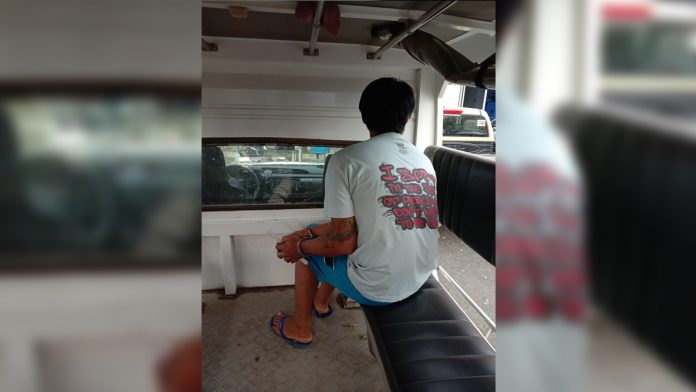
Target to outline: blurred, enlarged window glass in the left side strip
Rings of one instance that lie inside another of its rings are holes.
[[[195,89],[0,97],[0,267],[200,263],[200,135]]]

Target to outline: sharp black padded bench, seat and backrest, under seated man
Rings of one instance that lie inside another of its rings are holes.
[[[438,178],[440,221],[494,263],[495,164],[442,147],[426,155]],[[474,200],[478,208],[462,205]],[[495,391],[495,350],[433,277],[403,301],[362,309],[390,390]]]

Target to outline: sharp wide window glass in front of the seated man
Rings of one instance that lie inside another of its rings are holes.
[[[321,207],[324,169],[339,145],[207,143],[203,206]]]

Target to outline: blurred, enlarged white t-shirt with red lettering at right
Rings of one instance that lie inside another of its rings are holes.
[[[496,239],[499,243],[514,240],[517,246],[508,251],[498,249],[496,268],[499,273],[514,272],[519,279],[513,286],[498,292],[498,317],[504,314],[501,303],[526,304],[527,298],[541,295],[551,304],[551,310],[543,318],[523,314],[511,320],[498,320],[496,339],[499,347],[506,348],[506,353],[496,360],[496,390],[585,390],[585,326],[582,322],[560,317],[561,308],[557,306],[577,288],[559,291],[559,286],[564,284],[554,280],[577,276],[583,270],[582,258],[575,257],[583,253],[581,241],[577,239],[581,237],[583,220],[581,178],[565,140],[551,124],[511,94],[513,89],[500,79],[496,96]],[[568,189],[577,189],[571,191],[577,195],[565,193]],[[523,211],[525,216],[535,213],[537,223],[514,222],[511,217],[517,211]],[[556,218],[558,216],[563,219]],[[559,224],[573,216],[578,221],[577,226]],[[520,230],[521,226],[524,230]],[[540,256],[531,255],[529,249],[548,249],[553,255],[544,252],[540,252]],[[556,249],[564,251],[553,251]],[[524,263],[520,264],[520,260]],[[520,265],[524,267],[521,269]]]

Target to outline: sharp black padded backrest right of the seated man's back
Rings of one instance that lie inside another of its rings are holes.
[[[495,161],[437,146],[425,155],[437,176],[440,222],[495,265]]]

